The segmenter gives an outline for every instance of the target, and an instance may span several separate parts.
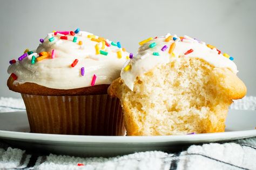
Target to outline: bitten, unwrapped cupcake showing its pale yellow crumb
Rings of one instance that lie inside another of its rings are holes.
[[[224,132],[228,107],[246,94],[233,57],[188,36],[139,44],[108,89],[122,102],[127,134]]]

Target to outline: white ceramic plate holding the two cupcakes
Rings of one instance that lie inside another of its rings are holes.
[[[138,151],[174,151],[180,146],[256,136],[256,111],[230,110],[226,132],[180,136],[75,136],[29,133],[26,112],[0,113],[0,141],[26,150],[112,156]]]

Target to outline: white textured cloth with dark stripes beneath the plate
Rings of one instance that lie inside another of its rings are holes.
[[[231,109],[256,110],[256,97],[235,101]],[[18,110],[25,110],[22,99],[0,98],[0,112]],[[113,158],[28,154],[0,139],[0,169],[256,169],[256,137],[192,145],[178,153],[147,151]]]

